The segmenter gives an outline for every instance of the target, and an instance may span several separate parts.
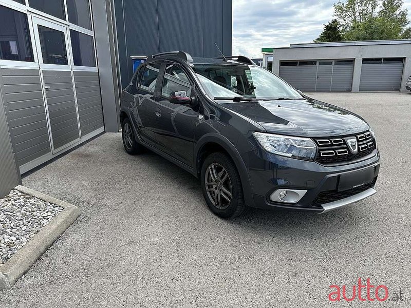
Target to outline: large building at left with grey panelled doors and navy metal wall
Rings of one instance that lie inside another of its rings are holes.
[[[119,130],[130,55],[216,56],[214,42],[231,54],[231,1],[0,0],[0,195]]]

